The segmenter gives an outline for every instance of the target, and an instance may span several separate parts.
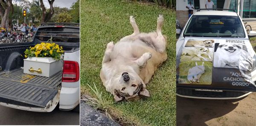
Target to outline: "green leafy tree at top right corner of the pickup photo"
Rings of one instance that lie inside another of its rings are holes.
[[[77,0],[73,5],[70,7],[70,13],[73,17],[73,22],[79,23],[80,22],[80,0]]]

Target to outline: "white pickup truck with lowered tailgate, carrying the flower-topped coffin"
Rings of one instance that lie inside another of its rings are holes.
[[[63,69],[52,77],[23,73],[24,51],[52,42],[64,49]],[[75,23],[42,23],[32,42],[0,44],[0,105],[34,112],[79,111],[80,28]]]

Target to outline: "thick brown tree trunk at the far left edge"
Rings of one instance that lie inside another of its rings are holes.
[[[12,12],[12,0],[1,0],[0,1],[0,16],[1,16],[1,27],[8,27],[8,18],[10,11]]]

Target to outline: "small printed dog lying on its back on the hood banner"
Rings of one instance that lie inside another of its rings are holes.
[[[195,62],[195,66],[189,69],[188,77],[190,83],[199,83],[199,79],[204,74],[204,62],[201,66],[198,66],[197,62]]]

